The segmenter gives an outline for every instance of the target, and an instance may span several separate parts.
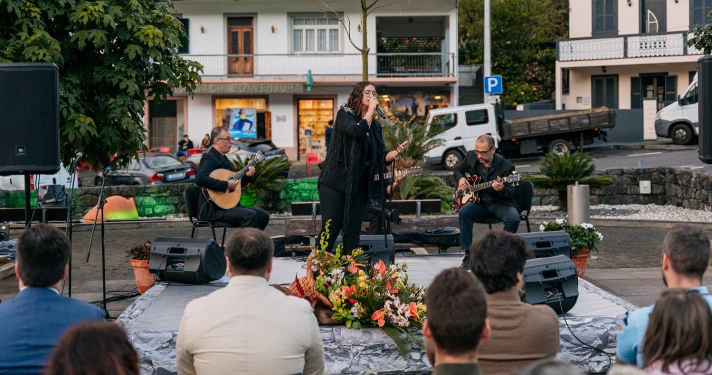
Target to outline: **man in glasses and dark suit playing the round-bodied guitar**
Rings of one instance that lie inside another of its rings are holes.
[[[224,126],[218,126],[210,132],[210,140],[213,145],[200,159],[198,173],[195,175],[195,185],[220,192],[227,191],[228,188],[234,190],[238,181],[221,181],[210,177],[210,173],[216,169],[230,169],[230,163],[225,156],[230,152],[232,144],[230,132]],[[255,168],[248,168],[247,173],[240,180],[241,185],[244,187],[250,183],[254,174]],[[224,210],[212,202],[207,204],[206,202],[208,201],[204,194],[201,194],[198,206],[200,207],[199,220],[229,222],[240,225],[240,227],[253,227],[259,230],[264,230],[269,222],[269,214],[259,208],[237,206]]]

